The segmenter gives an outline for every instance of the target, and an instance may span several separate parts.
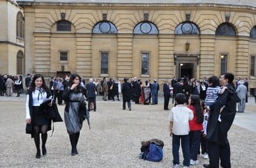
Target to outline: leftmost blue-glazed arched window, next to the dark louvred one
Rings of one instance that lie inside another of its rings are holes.
[[[117,34],[117,28],[112,22],[101,21],[98,22],[92,29],[94,34]]]

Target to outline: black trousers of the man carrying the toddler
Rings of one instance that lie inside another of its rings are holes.
[[[230,168],[230,143],[220,146],[216,142],[207,142],[208,156],[210,159],[210,167],[218,168],[219,163],[224,168]]]

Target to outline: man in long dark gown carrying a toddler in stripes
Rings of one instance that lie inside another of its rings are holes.
[[[236,94],[233,80],[234,75],[231,73],[223,74],[220,77],[220,85],[226,86],[226,90],[223,94],[219,95],[214,107],[210,107],[212,108],[212,113],[209,114],[207,123],[210,164],[203,164],[203,167],[218,168],[219,162],[222,167],[231,167],[228,130],[230,130],[230,126],[236,115],[236,103],[240,101]],[[221,122],[219,122],[218,116],[220,115],[220,109],[222,107],[224,107],[224,109],[221,112]]]

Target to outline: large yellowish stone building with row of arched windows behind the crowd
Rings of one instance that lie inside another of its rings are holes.
[[[26,72],[84,78],[203,78],[256,88],[256,2],[35,0],[24,8]]]

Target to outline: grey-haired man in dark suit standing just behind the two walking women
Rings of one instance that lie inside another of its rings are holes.
[[[90,78],[88,84],[86,84],[87,98],[88,98],[88,111],[90,111],[90,105],[93,103],[93,111],[96,111],[96,84],[93,79]]]

